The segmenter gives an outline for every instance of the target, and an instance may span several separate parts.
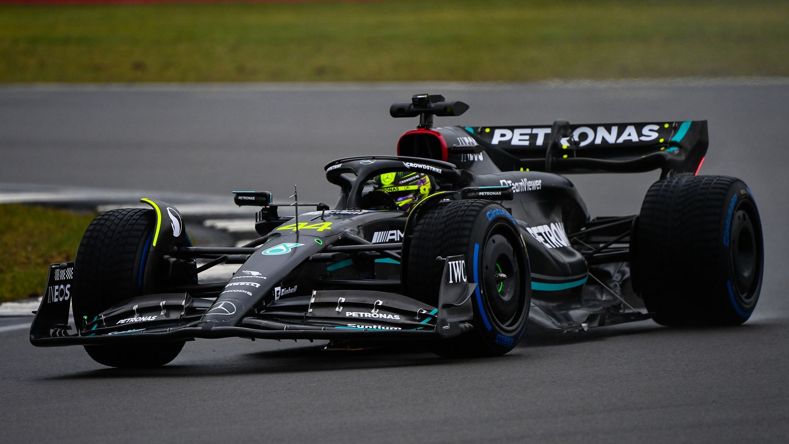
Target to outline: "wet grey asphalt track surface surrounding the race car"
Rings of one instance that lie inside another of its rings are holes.
[[[708,119],[702,174],[737,175],[765,228],[765,282],[745,325],[651,321],[533,334],[507,356],[195,341],[155,371],[34,348],[0,318],[0,442],[789,442],[787,81],[581,85],[0,88],[0,187],[332,201],[322,167],[391,154],[413,119],[388,105],[443,93],[438,124]],[[578,177],[593,215],[635,213],[656,175]]]

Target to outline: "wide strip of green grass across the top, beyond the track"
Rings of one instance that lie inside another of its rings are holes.
[[[789,2],[0,6],[0,82],[789,75]]]

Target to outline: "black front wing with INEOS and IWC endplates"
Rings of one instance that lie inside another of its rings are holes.
[[[91,344],[129,344],[247,337],[305,340],[424,340],[447,339],[473,328],[471,295],[475,283],[450,283],[445,260],[439,307],[398,293],[358,290],[315,291],[311,296],[280,299],[251,310],[241,325],[217,322],[219,310],[234,310],[212,299],[188,293],[143,295],[103,311],[69,333],[73,263],[50,265],[45,295],[30,329],[39,347]],[[79,295],[76,295],[79,297]],[[204,320],[211,311],[214,316]]]

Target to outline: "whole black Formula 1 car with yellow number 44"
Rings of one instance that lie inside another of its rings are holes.
[[[245,246],[192,246],[164,201],[100,214],[75,262],[50,266],[32,344],[82,344],[112,367],[163,365],[185,341],[220,337],[427,341],[442,356],[491,356],[512,350],[527,321],[574,331],[749,318],[759,213],[741,180],[696,175],[705,121],[433,126],[467,109],[426,94],[392,105],[393,117],[419,117],[417,130],[398,156],[327,164],[333,209],[234,191],[260,208],[261,237]],[[590,217],[561,175],[656,169],[632,216]],[[241,266],[199,282],[222,263]]]

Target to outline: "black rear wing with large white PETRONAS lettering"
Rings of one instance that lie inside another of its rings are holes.
[[[522,168],[590,173],[660,169],[665,177],[671,172],[696,173],[709,145],[706,120],[582,125],[555,122],[555,143],[551,126],[462,129],[473,135],[502,171]],[[441,132],[440,128],[434,130]]]

